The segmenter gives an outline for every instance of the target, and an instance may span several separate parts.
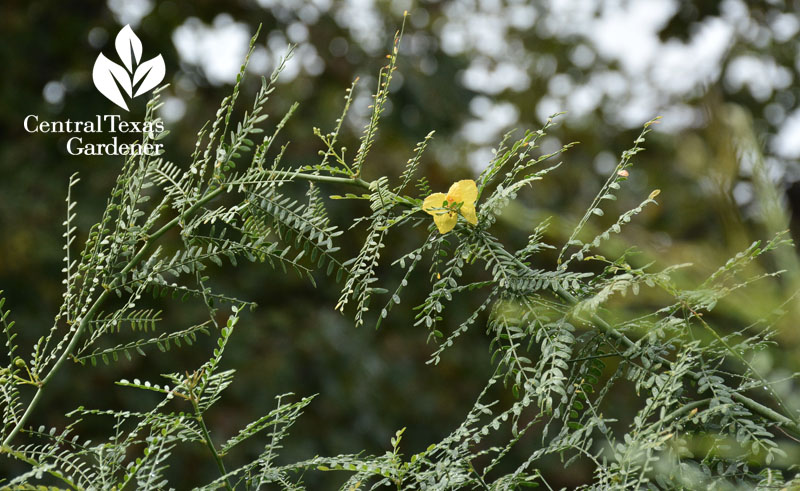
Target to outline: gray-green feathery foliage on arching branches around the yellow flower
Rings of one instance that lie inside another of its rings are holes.
[[[557,250],[544,241],[547,222],[533,227],[525,246],[517,250],[493,235],[493,226],[524,187],[558,167],[547,162],[571,146],[537,156],[538,142],[551,123],[517,141],[508,135],[477,179],[478,224],[461,221],[453,232],[439,234],[420,209],[421,198],[430,192],[427,180],[416,176],[422,172],[421,155],[432,133],[413,150],[399,182],[361,177],[378,136],[396,47],[397,43],[381,71],[372,115],[352,161],[336,146],[352,87],[334,130],[323,134],[314,129],[324,145],[320,162],[292,167],[282,162],[284,148],[276,148],[275,142],[294,107],[256,142],[282,65],[271,79],[263,80],[252,108],[234,123],[243,66],[232,96],[199,132],[188,168],[150,156],[125,162],[105,213],[77,257],[72,255],[72,190],[78,179],[71,179],[64,300],[52,328],[32,352],[15,344],[17,328],[0,299],[7,347],[0,382],[0,452],[30,466],[29,472],[9,478],[5,485],[55,481],[73,488],[163,489],[175,485],[164,478],[170,456],[190,445],[207,447],[209,460],[219,469],[219,477],[204,487],[208,489],[258,489],[268,484],[302,489],[306,471],[345,473],[342,489],[549,487],[541,466],[552,465],[553,456],[564,467],[576,460],[588,462],[594,477],[584,487],[592,489],[734,489],[782,486],[792,479],[795,470],[779,440],[784,434],[800,436],[797,411],[787,407],[748,362],[771,342],[772,331],[751,326],[723,335],[703,318],[722,297],[759,279],[747,276],[748,264],[787,246],[784,236],[764,246],[753,244],[695,289],[676,284],[672,273],[677,267],[634,268],[625,256],[609,260],[599,255],[596,249],[602,241],[620,234],[645,206],[655,205],[654,192],[596,237],[582,234],[590,220],[603,216],[604,204],[616,199],[626,180],[622,171],[641,150],[648,124],[558,252],[553,269],[532,268],[532,257]],[[158,107],[156,97],[148,105],[148,119]],[[145,134],[143,139],[162,136]],[[321,183],[361,188],[361,194],[333,197],[369,203],[369,214],[353,224],[366,228],[366,239],[350,259],[344,259],[336,245],[345,231],[331,225]],[[304,200],[286,193],[299,185],[307,186]],[[421,194],[406,194],[414,187]],[[227,198],[216,199],[223,195]],[[390,235],[408,227],[426,229],[424,241],[401,257],[383,257]],[[160,245],[167,232],[179,235],[179,249]],[[598,272],[571,268],[590,259],[601,265]],[[241,309],[252,305],[212,290],[209,266],[235,266],[242,260],[292,270],[312,282],[314,272],[327,274],[329,281],[342,285],[336,308],[352,312],[356,327],[380,323],[393,309],[411,307],[401,304],[405,288],[427,278],[429,294],[414,311],[415,325],[427,329],[429,339],[438,343],[429,363],[438,364],[468,330],[483,329],[495,371],[462,423],[414,455],[404,454],[399,430],[383,455],[309,456],[286,463],[279,458],[284,440],[303,408],[312,403],[312,397],[291,394],[278,396],[273,410],[227,442],[215,442],[204,415],[234,381],[235,372],[224,368],[225,348],[235,342],[232,335]],[[382,284],[379,264],[401,268],[401,283]],[[669,300],[635,318],[611,320],[610,302],[644,288],[659,290]],[[471,312],[448,308],[454,297],[467,292],[478,292],[483,301]],[[163,330],[162,313],[143,307],[144,295],[197,298],[208,319]],[[384,305],[376,316],[370,315],[373,300]],[[220,325],[222,315],[228,320]],[[449,333],[443,332],[445,315],[461,322]],[[139,337],[115,343],[121,330]],[[710,335],[700,336],[701,332]],[[29,426],[41,394],[65,363],[113,363],[154,346],[162,351],[185,347],[199,335],[216,336],[218,341],[209,360],[196,369],[165,374],[157,382],[117,382],[121,390],[154,393],[160,402],[150,411],[80,407],[67,415],[74,423],[65,428]],[[492,396],[499,386],[511,395],[505,402]],[[624,426],[616,424],[608,402],[619,387],[635,391],[640,401]],[[757,391],[761,402],[752,398]],[[175,401],[183,409],[176,410]],[[76,423],[87,418],[107,421],[106,440],[81,438]],[[20,433],[36,443],[20,443]],[[248,462],[230,462],[228,452],[247,439],[261,442],[261,453]],[[692,444],[698,439],[703,445]],[[520,454],[525,458],[507,462]]]

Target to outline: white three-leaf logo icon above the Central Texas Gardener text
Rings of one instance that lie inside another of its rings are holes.
[[[105,57],[97,56],[92,70],[95,87],[108,100],[128,111],[122,91],[128,98],[138,97],[155,88],[166,73],[161,55],[139,63],[142,59],[142,41],[133,33],[130,25],[123,27],[114,40],[114,47],[124,67]],[[120,91],[120,87],[122,91]],[[135,92],[134,92],[135,89]]]

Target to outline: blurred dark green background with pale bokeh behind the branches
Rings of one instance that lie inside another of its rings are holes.
[[[476,177],[507,130],[536,129],[550,114],[567,111],[541,152],[570,141],[580,145],[563,156],[557,172],[520,195],[495,232],[518,246],[536,224],[552,217],[547,239],[560,246],[641,124],[662,115],[647,151],[636,157],[629,185],[597,226],[608,225],[616,216],[612,211],[636,206],[656,188],[662,191],[661,205],[635,219],[604,254],[616,257],[635,246],[639,254],[631,258],[633,264],[655,261],[659,268],[691,262],[694,267],[679,277],[690,287],[753,240],[790,227],[797,231],[798,1],[587,0],[531,6],[500,0],[6,0],[0,6],[0,289],[9,297],[23,346],[50,326],[61,300],[68,177],[79,172],[82,179],[77,225],[85,234],[99,218],[122,160],[68,155],[64,135],[28,134],[22,122],[29,114],[42,120],[87,120],[96,114],[141,119],[143,99],[123,113],[92,84],[95,58],[101,51],[113,55],[122,26],[130,24],[142,40],[143,59],[164,57],[165,82],[171,84],[161,113],[171,130],[166,156],[179,164],[187,162],[196,132],[230,93],[257,26],[263,25],[262,34],[250,67],[257,76],[245,83],[240,109],[251,104],[258,76],[271,71],[290,43],[297,44],[268,104],[267,123],[275,124],[292,102],[300,103],[282,138],[291,142],[284,162],[300,165],[313,162],[322,148],[312,127],[333,128],[345,89],[360,77],[342,139],[351,153],[355,150],[377,71],[405,10],[409,16],[396,83],[365,178],[399,175],[414,144],[436,130],[421,172],[434,190],[445,190],[455,180]],[[304,189],[296,192],[299,196]],[[333,222],[345,227],[366,210],[362,203],[329,205]],[[363,235],[356,229],[344,236],[344,258],[355,254]],[[390,242],[381,286],[393,289],[400,273],[389,266],[390,259],[421,240],[421,231],[413,231]],[[553,268],[553,258],[545,256],[537,266]],[[717,325],[736,328],[772,316],[800,284],[792,250],[763,266],[788,273],[720,305]],[[452,430],[490,373],[488,338],[480,327],[450,349],[438,367],[425,364],[435,346],[426,344],[424,329],[412,327],[409,312],[424,298],[423,287],[407,290],[405,309],[395,308],[380,330],[356,330],[333,311],[338,285],[323,276],[313,288],[267,265],[217,273],[219,289],[259,304],[243,319],[228,351],[226,363],[239,370],[239,378],[212,413],[217,440],[268,412],[274,396],[293,391],[319,396],[286,442],[286,461],[362,449],[382,453],[402,427],[408,427],[403,440],[408,455]],[[415,281],[427,281],[424,272]],[[377,300],[373,310],[379,310]],[[658,301],[645,292],[618,306],[635,312]],[[452,330],[479,302],[479,297],[457,299],[444,330]],[[186,327],[204,313],[202,305],[191,302],[153,306],[164,309],[160,329]],[[800,359],[797,302],[784,310],[778,320],[780,347],[758,360],[774,378],[797,371]],[[59,390],[48,393],[42,406],[47,409],[32,423],[63,426],[61,415],[78,405],[149,407],[152,400],[112,382],[134,376],[155,381],[159,373],[193,370],[212,342],[149,353],[106,370],[72,366],[59,375]],[[789,382],[778,390],[800,407]],[[508,395],[499,392],[498,397]],[[110,423],[87,421],[82,427],[87,435],[99,435]],[[534,438],[530,445],[535,444]],[[176,452],[176,459],[171,472],[178,482],[189,486],[215,477],[203,448]],[[0,474],[22,469],[6,461],[0,466]],[[554,466],[547,475],[556,485],[571,486],[591,476],[588,467],[562,473],[557,462]],[[308,477],[319,485],[328,479],[339,477]]]

